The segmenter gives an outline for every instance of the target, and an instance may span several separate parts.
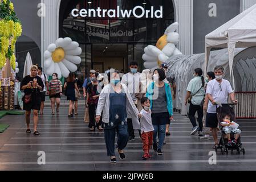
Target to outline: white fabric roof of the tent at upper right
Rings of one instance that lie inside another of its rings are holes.
[[[206,47],[229,42],[256,42],[256,4],[205,36]],[[227,46],[226,46],[227,47]]]

